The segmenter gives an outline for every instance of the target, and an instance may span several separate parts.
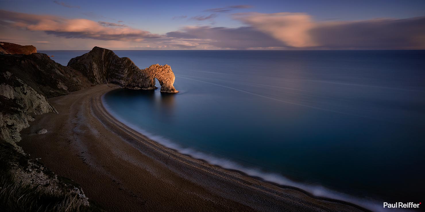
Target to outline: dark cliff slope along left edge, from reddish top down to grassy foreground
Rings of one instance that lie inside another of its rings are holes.
[[[89,206],[81,188],[31,160],[16,142],[34,115],[57,113],[46,97],[65,95],[92,84],[77,70],[45,54],[31,54],[36,52],[33,46],[6,47],[11,48],[0,49],[0,187],[4,188],[0,192],[0,211],[91,211],[93,206]]]

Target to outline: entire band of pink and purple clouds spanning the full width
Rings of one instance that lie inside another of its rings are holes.
[[[38,43],[43,49],[94,45],[120,49],[425,49],[425,17],[363,21],[315,21],[305,13],[239,13],[231,17],[244,26],[185,26],[159,35],[121,22],[0,10],[0,37],[11,42],[49,41]]]

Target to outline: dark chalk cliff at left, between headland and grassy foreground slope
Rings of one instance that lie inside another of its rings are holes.
[[[42,53],[0,55],[0,64],[0,138],[12,144],[33,115],[56,112],[47,98],[92,85],[77,70]]]

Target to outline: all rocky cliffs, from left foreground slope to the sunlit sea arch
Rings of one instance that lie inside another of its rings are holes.
[[[0,42],[0,152],[2,180],[14,181],[20,187],[30,186],[37,192],[54,195],[77,195],[78,206],[88,206],[81,188],[64,182],[37,161],[31,161],[16,142],[20,131],[30,126],[35,115],[58,113],[48,98],[67,95],[95,84],[114,83],[128,89],[156,89],[178,92],[170,66],[152,65],[140,70],[129,58],[119,58],[113,51],[94,47],[89,53],[71,59],[63,66],[36,47]],[[59,111],[60,113],[60,111]],[[40,128],[37,133],[44,134]],[[23,162],[24,161],[24,162]],[[25,187],[26,188],[26,187]],[[1,193],[0,196],[4,198]],[[0,202],[0,205],[3,203]]]

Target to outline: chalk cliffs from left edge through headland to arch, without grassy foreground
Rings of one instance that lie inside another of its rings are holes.
[[[0,55],[0,139],[11,143],[20,140],[20,130],[29,126],[34,114],[56,112],[47,98],[102,83],[128,89],[156,89],[155,78],[161,84],[161,92],[178,92],[169,65],[155,64],[140,70],[129,58],[94,47],[89,53],[71,59],[68,66],[62,66],[46,54],[30,53],[30,47],[14,44],[6,47],[11,46],[8,50],[14,49],[13,53],[17,54]]]

